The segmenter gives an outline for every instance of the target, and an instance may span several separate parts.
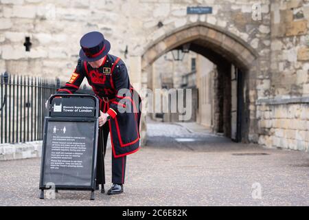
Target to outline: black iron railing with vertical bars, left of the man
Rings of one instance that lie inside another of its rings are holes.
[[[1,74],[1,144],[42,140],[45,102],[60,86],[56,78]],[[91,91],[84,87],[78,93]]]

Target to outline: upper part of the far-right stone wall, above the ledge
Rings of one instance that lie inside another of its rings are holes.
[[[309,95],[309,1],[271,4],[270,98]]]

